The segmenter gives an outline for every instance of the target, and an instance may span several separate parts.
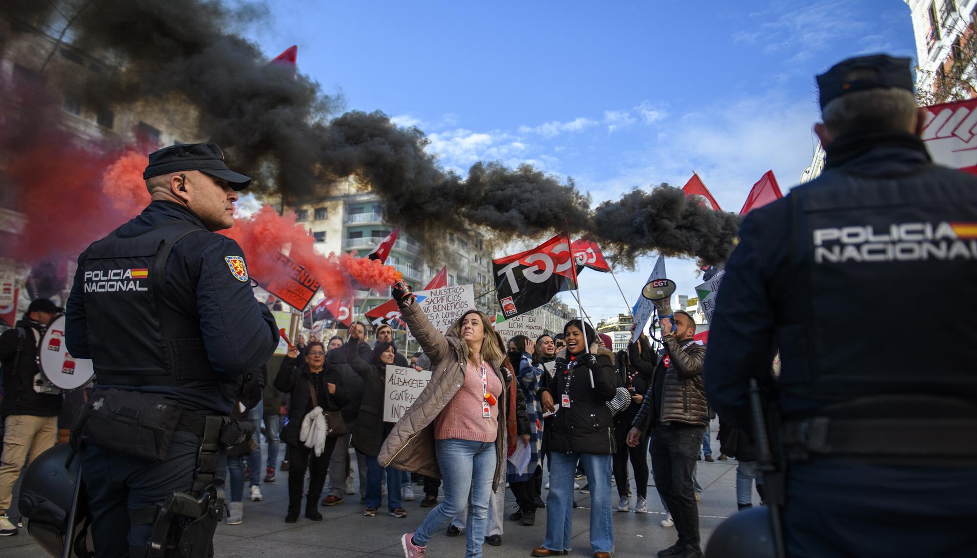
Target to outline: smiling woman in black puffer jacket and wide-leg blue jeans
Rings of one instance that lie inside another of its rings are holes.
[[[557,354],[553,381],[539,391],[543,411],[556,415],[549,436],[546,540],[532,555],[557,556],[570,551],[573,475],[579,462],[590,485],[590,547],[594,558],[610,558],[614,551],[611,463],[615,438],[607,403],[615,398],[617,388],[614,353],[594,342],[593,328],[580,320],[568,322],[563,334],[567,348]],[[586,342],[593,343],[589,352]]]

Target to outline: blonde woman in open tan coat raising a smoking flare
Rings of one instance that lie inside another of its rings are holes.
[[[484,312],[468,310],[442,335],[403,281],[393,294],[434,366],[431,381],[387,436],[378,460],[384,467],[442,478],[445,486],[445,499],[401,539],[404,556],[422,558],[434,531],[471,494],[465,556],[477,558],[485,541],[488,498],[505,482],[505,354]]]

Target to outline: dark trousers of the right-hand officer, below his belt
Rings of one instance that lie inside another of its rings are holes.
[[[787,556],[973,556],[975,479],[977,466],[791,463]]]

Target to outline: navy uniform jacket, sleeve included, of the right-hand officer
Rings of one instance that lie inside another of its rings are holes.
[[[748,379],[774,381],[778,347],[786,419],[882,393],[977,400],[977,177],[934,165],[911,134],[827,154],[821,177],[743,219],[709,328],[709,402],[748,425]]]

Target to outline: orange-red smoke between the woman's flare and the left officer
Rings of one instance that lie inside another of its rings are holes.
[[[275,258],[279,252],[304,265],[319,279],[322,292],[330,297],[349,294],[350,277],[371,289],[386,289],[400,281],[399,271],[379,261],[348,254],[319,254],[315,239],[295,219],[293,212],[279,216],[272,206],[266,205],[250,218],[235,219],[234,227],[222,232],[237,241],[247,259],[249,273],[261,283],[284,278],[279,277],[284,271]]]

